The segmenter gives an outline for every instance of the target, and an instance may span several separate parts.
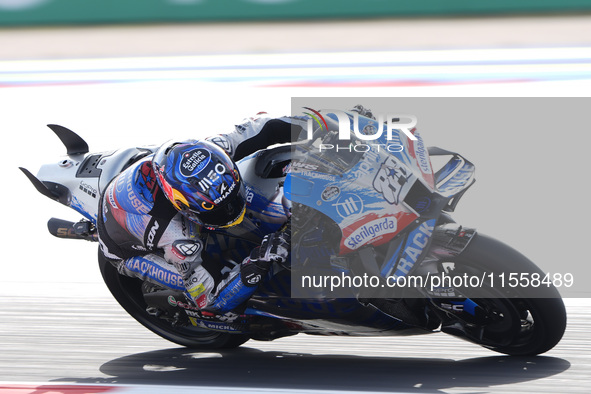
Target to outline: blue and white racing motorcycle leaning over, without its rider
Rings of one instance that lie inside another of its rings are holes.
[[[232,267],[288,219],[292,245],[290,261],[274,264],[239,315],[204,313],[178,288],[119,274],[99,252],[103,279],[119,304],[157,335],[201,349],[299,333],[440,331],[509,355],[553,348],[566,328],[557,289],[541,280],[529,281],[535,286],[500,286],[506,274],[545,274],[516,250],[450,216],[474,183],[474,165],[460,154],[426,148],[414,130],[407,135],[394,129],[369,144],[363,133],[380,124],[347,116],[352,126],[345,140],[338,117],[324,112],[313,132],[237,163],[246,185],[248,231],[212,230],[208,253]],[[52,235],[97,241],[101,193],[156,148],[91,153],[73,131],[49,128],[67,155],[43,165],[36,176],[21,170],[41,194],[84,217],[77,223],[51,218]],[[435,172],[433,156],[449,160]]]

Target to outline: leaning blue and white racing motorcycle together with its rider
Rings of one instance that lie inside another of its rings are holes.
[[[572,274],[538,286],[552,274],[449,215],[474,182],[470,161],[426,149],[420,138],[411,143],[403,136],[410,130],[384,135],[368,111],[360,119],[355,109],[304,108],[317,117],[251,119],[234,133],[159,150],[91,153],[79,135],[49,125],[67,157],[44,164],[37,176],[20,169],[40,194],[84,216],[77,223],[51,218],[49,232],[95,242],[100,232],[99,268],[115,300],[182,346],[228,349],[298,333],[443,332],[524,356],[560,341],[567,319],[556,287],[563,279],[572,284]],[[306,133],[292,146],[249,154],[286,141],[287,124]],[[395,140],[404,149],[366,149],[362,136],[378,132],[377,142]],[[234,164],[241,155],[248,156]],[[425,168],[430,156],[451,158],[433,174]],[[410,190],[399,193],[408,176]],[[288,264],[271,264],[291,244]],[[528,285],[506,288],[505,275],[516,273],[529,277]],[[501,283],[494,287],[493,279]]]

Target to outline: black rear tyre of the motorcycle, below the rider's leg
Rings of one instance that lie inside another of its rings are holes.
[[[100,250],[99,268],[105,284],[119,305],[141,325],[164,339],[193,349],[231,349],[250,339],[242,334],[229,334],[190,325],[173,326],[171,322],[146,311],[148,305],[143,296],[143,282],[119,274]]]

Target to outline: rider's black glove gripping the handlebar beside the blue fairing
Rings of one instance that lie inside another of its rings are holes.
[[[276,232],[263,238],[261,246],[250,253],[250,257],[240,266],[240,278],[246,286],[257,286],[267,274],[271,264],[284,263],[289,255],[289,232]]]

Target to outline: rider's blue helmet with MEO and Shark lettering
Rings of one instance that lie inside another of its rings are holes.
[[[209,228],[234,226],[246,208],[236,164],[208,141],[169,142],[152,160],[166,198],[184,216]]]

